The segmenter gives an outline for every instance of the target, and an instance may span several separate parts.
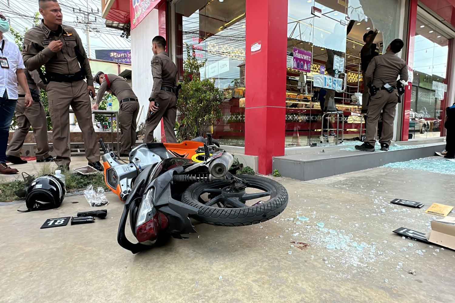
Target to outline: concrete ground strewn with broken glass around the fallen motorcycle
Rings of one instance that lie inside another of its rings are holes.
[[[392,233],[429,231],[425,209],[455,204],[454,175],[375,168],[277,180],[289,193],[277,218],[197,224],[190,239],[137,255],[116,243],[123,204],[114,194],[108,218],[86,225],[40,229],[89,210],[83,196],[26,214],[16,211],[23,204],[2,206],[0,302],[455,302],[455,252]]]

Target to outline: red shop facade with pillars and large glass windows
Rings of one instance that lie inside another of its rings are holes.
[[[270,174],[273,157],[288,147],[321,145],[320,99],[330,90],[343,112],[344,139],[362,134],[359,54],[369,30],[379,31],[380,53],[395,38],[405,42],[398,55],[410,79],[394,140],[445,136],[445,108],[455,98],[455,0],[103,0],[102,10],[107,26],[131,35],[132,84],[141,103],[152,87],[144,62],[153,36],[166,36],[180,75],[188,54],[205,62],[201,79],[212,79],[225,96],[212,133],[258,156],[261,174]],[[326,70],[331,54],[337,79]],[[161,129],[156,137],[165,140]]]

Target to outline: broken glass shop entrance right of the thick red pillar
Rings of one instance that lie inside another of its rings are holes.
[[[321,141],[327,144],[327,140],[334,144],[337,139],[355,140],[364,134],[364,129],[360,132],[364,128],[361,111],[362,103],[368,100],[363,100],[367,98],[362,94],[361,50],[374,48],[382,54],[390,41],[399,37],[399,3],[399,0],[288,0],[287,146],[321,144]],[[364,35],[368,36],[369,32],[369,38],[364,41]],[[298,58],[308,58],[306,55],[311,58],[309,70],[301,68],[301,63],[305,65],[306,61]],[[364,62],[365,66],[368,64]],[[336,115],[330,115],[324,122],[322,119],[330,110],[343,112],[338,138],[334,136]]]

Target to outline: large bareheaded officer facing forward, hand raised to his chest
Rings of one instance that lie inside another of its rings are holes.
[[[39,4],[44,19],[40,25],[25,33],[22,54],[28,70],[39,70],[41,65],[45,66],[55,161],[61,169],[69,169],[71,105],[82,130],[89,165],[102,171],[97,136],[91,121],[89,92],[94,98],[95,88],[81,38],[74,28],[62,25],[63,15],[56,0],[40,0]]]

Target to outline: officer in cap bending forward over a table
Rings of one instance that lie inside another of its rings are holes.
[[[114,74],[104,74],[99,71],[94,80],[100,84],[98,93],[96,94],[96,104],[93,104],[92,109],[98,109],[98,105],[103,99],[104,93],[110,91],[111,94],[117,97],[120,103],[117,121],[120,123],[121,131],[121,149],[120,156],[128,157],[131,151],[131,146],[136,144],[136,118],[139,113],[139,102],[136,95],[130,87],[130,84],[120,76]]]

